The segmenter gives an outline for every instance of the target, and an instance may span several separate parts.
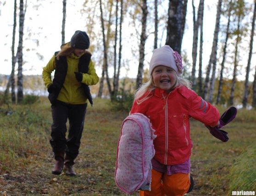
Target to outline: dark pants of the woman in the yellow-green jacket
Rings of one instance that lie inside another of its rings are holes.
[[[66,156],[75,159],[79,154],[80,140],[84,129],[87,104],[66,104],[56,101],[51,105],[53,123],[51,125],[50,144],[53,152],[66,152]],[[67,120],[69,122],[66,139]]]

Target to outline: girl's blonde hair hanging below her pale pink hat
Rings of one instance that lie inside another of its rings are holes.
[[[181,87],[181,86],[186,86],[188,89],[191,88],[191,86],[192,86],[191,81],[179,77],[176,72],[175,72],[175,74],[176,74],[176,84],[173,87],[173,89],[175,89],[177,87]],[[147,91],[149,91],[149,93],[148,93],[148,95],[149,95],[151,93],[151,91],[153,91],[155,88],[156,87],[154,86],[153,78],[150,75],[148,82],[142,84],[142,86],[135,92],[134,100],[138,100],[139,98],[141,98],[142,95],[144,95]],[[144,97],[143,100],[141,100],[141,102],[147,100],[149,98],[148,95],[146,95],[146,97]]]

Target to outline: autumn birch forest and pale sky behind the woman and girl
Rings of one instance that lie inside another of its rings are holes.
[[[255,2],[170,2],[1,0],[0,20],[6,25],[0,34],[2,90],[11,86],[12,102],[23,100],[23,85],[25,93],[29,89],[39,94],[42,87],[40,93],[46,94],[42,67],[76,29],[82,29],[90,36],[89,50],[101,77],[92,87],[95,96],[116,97],[122,84],[127,93],[134,93],[148,79],[154,48],[167,44],[182,54],[182,77],[207,101],[255,106]]]

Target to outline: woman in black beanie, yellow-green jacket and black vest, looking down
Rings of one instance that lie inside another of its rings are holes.
[[[99,81],[91,53],[87,51],[89,46],[90,39],[86,32],[75,31],[70,42],[62,45],[43,68],[53,120],[50,144],[56,162],[52,174],[61,174],[65,166],[66,175],[76,175],[73,165],[79,154],[87,100],[92,104],[88,85]],[[66,138],[67,120],[69,129]]]

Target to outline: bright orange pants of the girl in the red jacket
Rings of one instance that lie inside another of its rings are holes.
[[[140,191],[140,196],[183,196],[190,186],[189,174],[166,175],[152,169],[151,191]]]

